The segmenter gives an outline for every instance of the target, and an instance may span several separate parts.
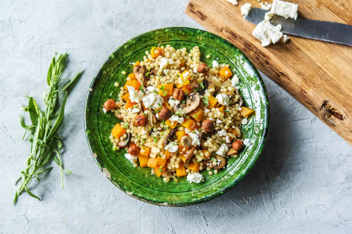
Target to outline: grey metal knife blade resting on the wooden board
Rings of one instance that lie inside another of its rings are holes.
[[[254,7],[244,19],[257,25],[264,20],[266,12],[269,11]],[[352,46],[352,25],[300,17],[297,17],[297,20],[285,19],[278,15],[274,15],[270,21],[275,26],[281,24],[281,32],[285,34]]]

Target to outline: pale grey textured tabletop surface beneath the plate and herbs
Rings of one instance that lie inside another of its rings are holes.
[[[124,194],[101,173],[83,128],[93,75],[133,36],[168,26],[202,28],[184,13],[187,3],[1,1],[0,233],[352,232],[351,145],[264,75],[271,107],[268,141],[252,171],[226,194],[191,207],[158,207]],[[66,51],[66,74],[84,69],[59,130],[66,136],[64,165],[74,174],[64,176],[61,190],[54,165],[40,186],[32,185],[42,201],[23,194],[11,206],[14,181],[29,152],[29,143],[21,141],[20,103],[24,95],[40,100],[52,56]]]

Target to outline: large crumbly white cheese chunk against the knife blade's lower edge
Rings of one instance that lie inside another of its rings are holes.
[[[252,34],[262,42],[262,46],[264,47],[270,45],[270,43],[275,44],[282,38],[283,33],[280,30],[280,24],[274,26],[269,21],[265,22],[264,20],[254,28]]]

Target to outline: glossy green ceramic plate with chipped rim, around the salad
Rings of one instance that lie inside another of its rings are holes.
[[[103,103],[110,98],[118,99],[120,86],[126,75],[132,72],[131,62],[141,60],[152,46],[170,44],[174,48],[186,47],[189,51],[199,46],[201,61],[212,64],[213,60],[230,65],[240,78],[240,93],[245,105],[255,110],[247,125],[241,127],[245,149],[237,159],[230,158],[226,169],[208,175],[202,171],[205,182],[196,184],[179,178],[169,183],[151,174],[149,168],[134,168],[124,158],[125,150],[112,150],[109,140],[112,127],[118,122],[112,113],[102,112]],[[209,59],[206,55],[210,54]],[[120,86],[115,87],[114,82]],[[95,74],[87,94],[85,106],[85,129],[93,158],[106,177],[119,189],[139,200],[161,206],[189,206],[209,201],[235,186],[250,171],[264,147],[269,128],[269,103],[263,80],[252,62],[227,40],[194,28],[162,28],[139,35],[117,48]]]

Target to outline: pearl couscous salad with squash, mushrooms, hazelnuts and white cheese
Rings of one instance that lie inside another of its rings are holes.
[[[104,103],[105,113],[122,120],[109,136],[113,150],[126,149],[134,167],[149,167],[165,182],[187,176],[200,183],[200,171],[218,174],[244,146],[239,126],[253,110],[242,106],[239,79],[228,64],[209,67],[200,58],[198,46],[152,47],[133,63],[118,100]]]

